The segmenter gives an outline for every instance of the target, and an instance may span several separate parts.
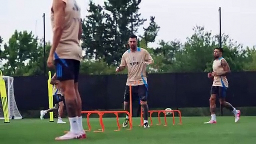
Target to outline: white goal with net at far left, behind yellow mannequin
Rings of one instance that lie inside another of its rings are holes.
[[[22,119],[21,113],[16,105],[14,90],[13,90],[13,77],[3,76],[6,86],[6,94],[8,101],[9,119]],[[3,104],[0,98],[0,119],[4,119]]]

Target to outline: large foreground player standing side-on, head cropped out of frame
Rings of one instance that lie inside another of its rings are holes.
[[[53,0],[51,7],[53,44],[47,66],[51,68],[55,65],[56,79],[60,81],[63,90],[70,123],[70,131],[55,140],[86,138],[82,126],[81,97],[78,91],[78,75],[82,59],[82,48],[79,44],[82,34],[80,12],[81,9],[75,0]]]

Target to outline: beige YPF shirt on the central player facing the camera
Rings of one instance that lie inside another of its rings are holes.
[[[144,64],[146,51],[138,47],[137,51],[128,50],[125,53],[125,61],[127,63],[128,76],[126,85],[143,85],[147,82],[146,65]]]

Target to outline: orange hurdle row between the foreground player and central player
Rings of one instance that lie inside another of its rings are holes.
[[[85,130],[85,131],[91,131],[90,115],[93,114],[93,113],[99,115],[100,126],[102,128],[102,129],[99,129],[99,131],[94,131],[94,132],[104,132],[105,131],[105,126],[104,126],[104,123],[103,123],[103,115],[106,114],[106,113],[113,113],[113,114],[116,115],[116,125],[118,126],[118,129],[115,129],[114,131],[120,131],[119,116],[118,116],[119,113],[126,113],[129,116],[130,128],[128,130],[132,129],[131,116],[130,116],[129,112],[126,112],[126,111],[97,111],[97,110],[95,110],[95,111],[82,111],[81,113],[82,114],[87,113],[88,130]]]

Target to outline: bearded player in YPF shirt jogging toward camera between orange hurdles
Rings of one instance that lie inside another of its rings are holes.
[[[129,85],[132,85],[132,101],[130,101],[130,103],[136,99],[140,100],[140,104],[144,112],[144,128],[149,128],[146,67],[147,65],[153,63],[153,59],[147,50],[137,47],[136,35],[130,35],[128,43],[130,48],[122,55],[121,65],[116,68],[117,72],[123,71],[125,68],[128,69],[127,82],[124,92],[124,110],[127,111],[129,108]],[[128,126],[128,120],[129,117],[126,116],[123,127]]]

